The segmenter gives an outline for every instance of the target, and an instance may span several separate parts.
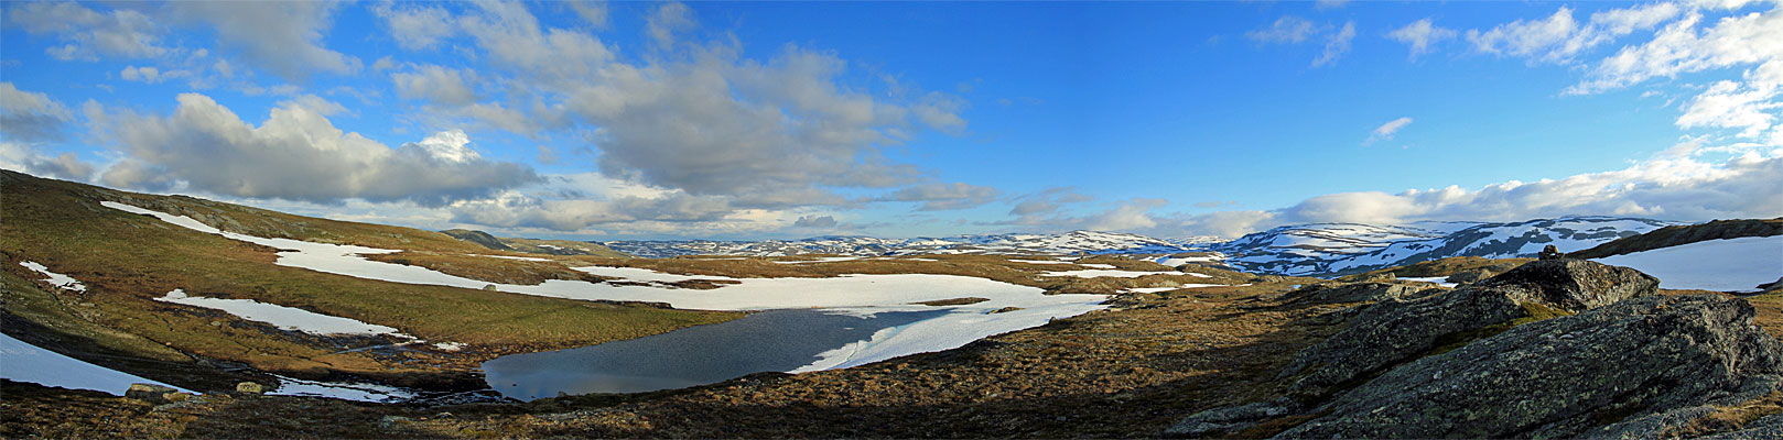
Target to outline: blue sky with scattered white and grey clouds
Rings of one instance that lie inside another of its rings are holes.
[[[1783,216],[1776,2],[9,2],[0,167],[565,239]]]

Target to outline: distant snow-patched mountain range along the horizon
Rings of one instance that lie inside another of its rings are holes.
[[[1154,239],[1118,232],[998,233],[945,239],[813,237],[802,240],[615,240],[637,257],[676,255],[1152,255],[1211,251],[1214,262],[1248,273],[1330,276],[1446,257],[1533,257],[1553,244],[1580,251],[1621,237],[1683,224],[1635,217],[1558,217],[1519,223],[1425,221],[1412,224],[1312,223],[1250,233]]]

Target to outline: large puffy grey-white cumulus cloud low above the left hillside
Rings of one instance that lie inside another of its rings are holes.
[[[344,132],[326,118],[339,109],[319,98],[287,102],[259,126],[205,94],[185,93],[178,103],[169,116],[98,114],[96,125],[127,153],[105,171],[105,183],[153,187],[177,180],[242,198],[444,205],[538,180],[531,167],[467,151],[462,132],[401,148]]]

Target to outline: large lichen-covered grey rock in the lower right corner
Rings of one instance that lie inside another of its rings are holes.
[[[1387,371],[1278,438],[1619,436],[1664,417],[1672,420],[1660,426],[1676,426],[1692,408],[1776,388],[1783,346],[1753,315],[1735,297],[1653,296],[1523,324]]]

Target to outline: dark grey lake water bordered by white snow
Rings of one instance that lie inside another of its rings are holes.
[[[685,388],[765,371],[811,365],[818,353],[867,340],[945,310],[856,317],[824,310],[768,310],[742,319],[578,349],[483,362],[489,387],[531,401],[565,394]]]

